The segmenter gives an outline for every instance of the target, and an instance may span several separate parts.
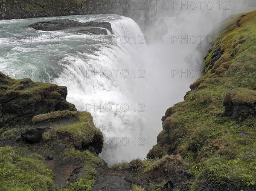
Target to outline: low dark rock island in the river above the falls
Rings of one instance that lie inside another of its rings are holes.
[[[62,29],[70,29],[74,27],[93,27],[90,29],[81,29],[80,31],[84,31],[86,33],[92,33],[92,34],[102,34],[102,33],[108,34],[106,30],[100,29],[100,28],[105,28],[112,32],[111,23],[104,22],[104,21],[102,22],[90,21],[87,23],[81,23],[79,21],[70,20],[70,19],[56,19],[56,20],[49,20],[49,21],[34,23],[29,25],[29,27],[32,27],[33,29],[41,30],[41,31],[57,31]],[[100,28],[96,28],[96,27],[100,27]]]

